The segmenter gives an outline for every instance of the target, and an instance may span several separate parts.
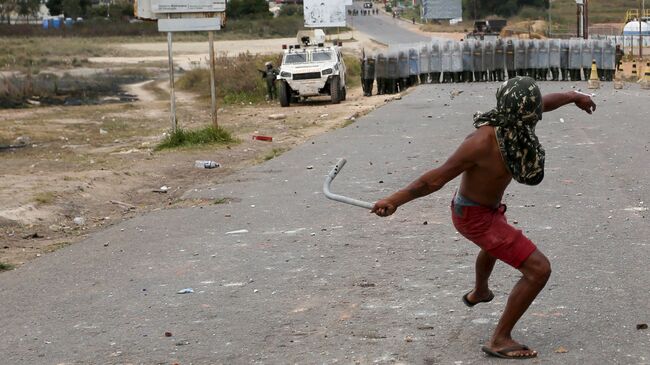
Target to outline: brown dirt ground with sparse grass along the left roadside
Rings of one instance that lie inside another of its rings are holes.
[[[314,98],[290,108],[276,102],[227,106],[219,110],[219,124],[240,143],[155,152],[171,126],[167,87],[164,77],[130,85],[139,97],[133,103],[1,111],[0,139],[22,140],[26,147],[0,150],[0,263],[21,265],[148,211],[227,204],[181,196],[345,126],[387,99],[363,97],[355,88],[338,105]],[[177,92],[177,106],[181,127],[210,123],[209,102]],[[271,120],[272,114],[286,118]],[[252,140],[255,134],[273,141]],[[199,169],[195,160],[222,167]]]

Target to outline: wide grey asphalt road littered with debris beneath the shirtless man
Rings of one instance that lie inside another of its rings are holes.
[[[1,274],[1,362],[500,363],[480,346],[519,274],[498,263],[495,300],[462,304],[478,250],[451,225],[457,180],[385,219],[321,193],[339,157],[349,162],[333,191],[365,200],[439,165],[496,87],[412,89],[186,194],[229,204],[147,214]],[[514,332],[540,352],[532,363],[650,364],[650,330],[637,329],[650,323],[650,94],[597,93],[593,116],[544,115],[546,178],[505,198],[554,270]]]

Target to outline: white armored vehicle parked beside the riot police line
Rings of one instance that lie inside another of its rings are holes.
[[[283,46],[278,75],[280,105],[320,95],[329,95],[334,104],[345,100],[346,69],[340,46],[325,45],[325,33],[320,29],[299,32],[298,42]]]

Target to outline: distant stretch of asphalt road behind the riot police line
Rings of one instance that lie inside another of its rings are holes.
[[[355,2],[354,7],[362,10],[361,3]],[[428,42],[431,37],[409,31],[404,27],[404,20],[395,19],[380,11],[378,15],[356,15],[347,17],[348,26],[367,34],[375,41],[388,46],[399,43]]]

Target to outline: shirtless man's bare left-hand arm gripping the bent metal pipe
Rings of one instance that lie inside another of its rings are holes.
[[[486,153],[486,148],[490,145],[487,139],[490,136],[492,135],[479,133],[479,131],[472,133],[444,164],[426,172],[404,189],[379,200],[371,212],[380,217],[387,217],[395,213],[400,205],[440,190],[449,181],[476,164],[476,161]]]

